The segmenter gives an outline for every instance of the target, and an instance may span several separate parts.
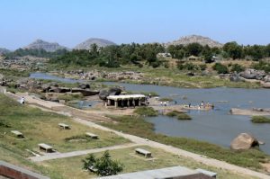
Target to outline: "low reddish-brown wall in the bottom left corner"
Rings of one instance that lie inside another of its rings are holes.
[[[12,179],[49,179],[47,176],[39,175],[19,166],[0,161],[0,176]]]

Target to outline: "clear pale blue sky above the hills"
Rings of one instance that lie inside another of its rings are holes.
[[[0,0],[0,48],[33,40],[68,48],[89,38],[168,42],[202,35],[221,43],[270,43],[269,0]]]

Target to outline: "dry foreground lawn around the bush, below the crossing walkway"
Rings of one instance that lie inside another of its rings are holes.
[[[135,148],[145,148],[148,151],[151,151],[153,158],[145,159],[144,157],[137,156],[134,153]],[[171,153],[168,153],[162,149],[150,148],[148,146],[111,150],[110,155],[112,158],[120,161],[124,166],[121,173],[138,172],[170,166],[186,166],[193,169],[203,168],[205,170],[216,172],[219,174],[219,179],[254,179],[251,176],[233,174],[227,170],[203,165],[202,163],[198,163],[191,158],[179,157],[177,155],[172,155]],[[103,153],[96,153],[94,156],[102,157]],[[85,159],[85,157],[87,156],[59,158],[57,160],[42,162],[41,165],[48,166],[49,169],[59,172],[65,178],[69,178],[70,176],[76,176],[76,178],[98,177],[94,173],[89,173],[82,169],[82,160]],[[72,164],[72,167],[70,167],[70,164]]]

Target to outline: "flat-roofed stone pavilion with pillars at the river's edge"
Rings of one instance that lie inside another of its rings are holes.
[[[143,94],[109,95],[106,105],[115,107],[147,105],[147,97]]]

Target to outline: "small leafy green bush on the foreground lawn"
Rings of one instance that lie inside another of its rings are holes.
[[[117,175],[123,170],[123,165],[112,160],[108,150],[100,158],[95,158],[93,154],[90,154],[83,160],[83,163],[84,169],[88,170],[89,167],[93,167],[96,169],[94,173],[101,176]]]

